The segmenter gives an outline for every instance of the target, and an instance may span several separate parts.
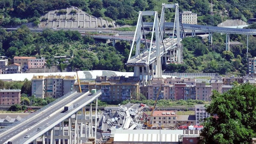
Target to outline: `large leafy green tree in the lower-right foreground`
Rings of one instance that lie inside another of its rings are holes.
[[[225,93],[213,92],[207,112],[219,118],[204,120],[200,133],[200,143],[251,143],[256,137],[256,87],[255,85],[235,85]]]

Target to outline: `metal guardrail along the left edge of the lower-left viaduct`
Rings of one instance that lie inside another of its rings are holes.
[[[62,99],[64,99],[64,98],[66,98],[67,96],[69,96],[70,94],[72,94],[72,93],[74,93],[74,92],[76,92],[76,90],[73,90],[73,91],[71,91],[71,92],[68,92],[67,94],[63,95],[63,96],[62,96],[62,97],[60,97],[59,99],[52,101],[51,103],[49,103],[49,104],[45,105],[43,108],[40,108],[40,109],[39,109],[39,110],[37,110],[35,113],[32,113],[32,114],[30,114],[29,116],[27,116],[27,117],[23,118],[23,119],[22,119],[22,121],[20,121],[20,122],[16,122],[16,123],[13,123],[13,124],[11,124],[10,126],[8,126],[7,128],[2,129],[2,130],[0,131],[0,133],[2,133],[2,132],[4,132],[4,131],[6,131],[6,130],[8,130],[8,129],[10,129],[11,127],[13,127],[13,126],[15,126],[15,125],[17,125],[17,124],[22,123],[23,121],[25,121],[25,120],[27,120],[27,119],[31,118],[32,116],[35,116],[36,114],[40,113],[40,112],[41,112],[41,111],[43,111],[44,109],[46,109],[46,108],[48,108],[48,107],[52,106],[53,104],[55,104],[55,103],[59,102],[60,100],[62,100]]]

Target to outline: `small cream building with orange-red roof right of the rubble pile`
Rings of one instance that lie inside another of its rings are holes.
[[[158,126],[159,123],[164,127],[175,126],[177,122],[177,114],[175,111],[154,111],[152,115],[152,125]]]

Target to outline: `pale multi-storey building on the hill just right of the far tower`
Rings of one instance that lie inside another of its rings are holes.
[[[181,22],[186,24],[197,24],[197,13],[191,11],[183,11],[180,14]]]

